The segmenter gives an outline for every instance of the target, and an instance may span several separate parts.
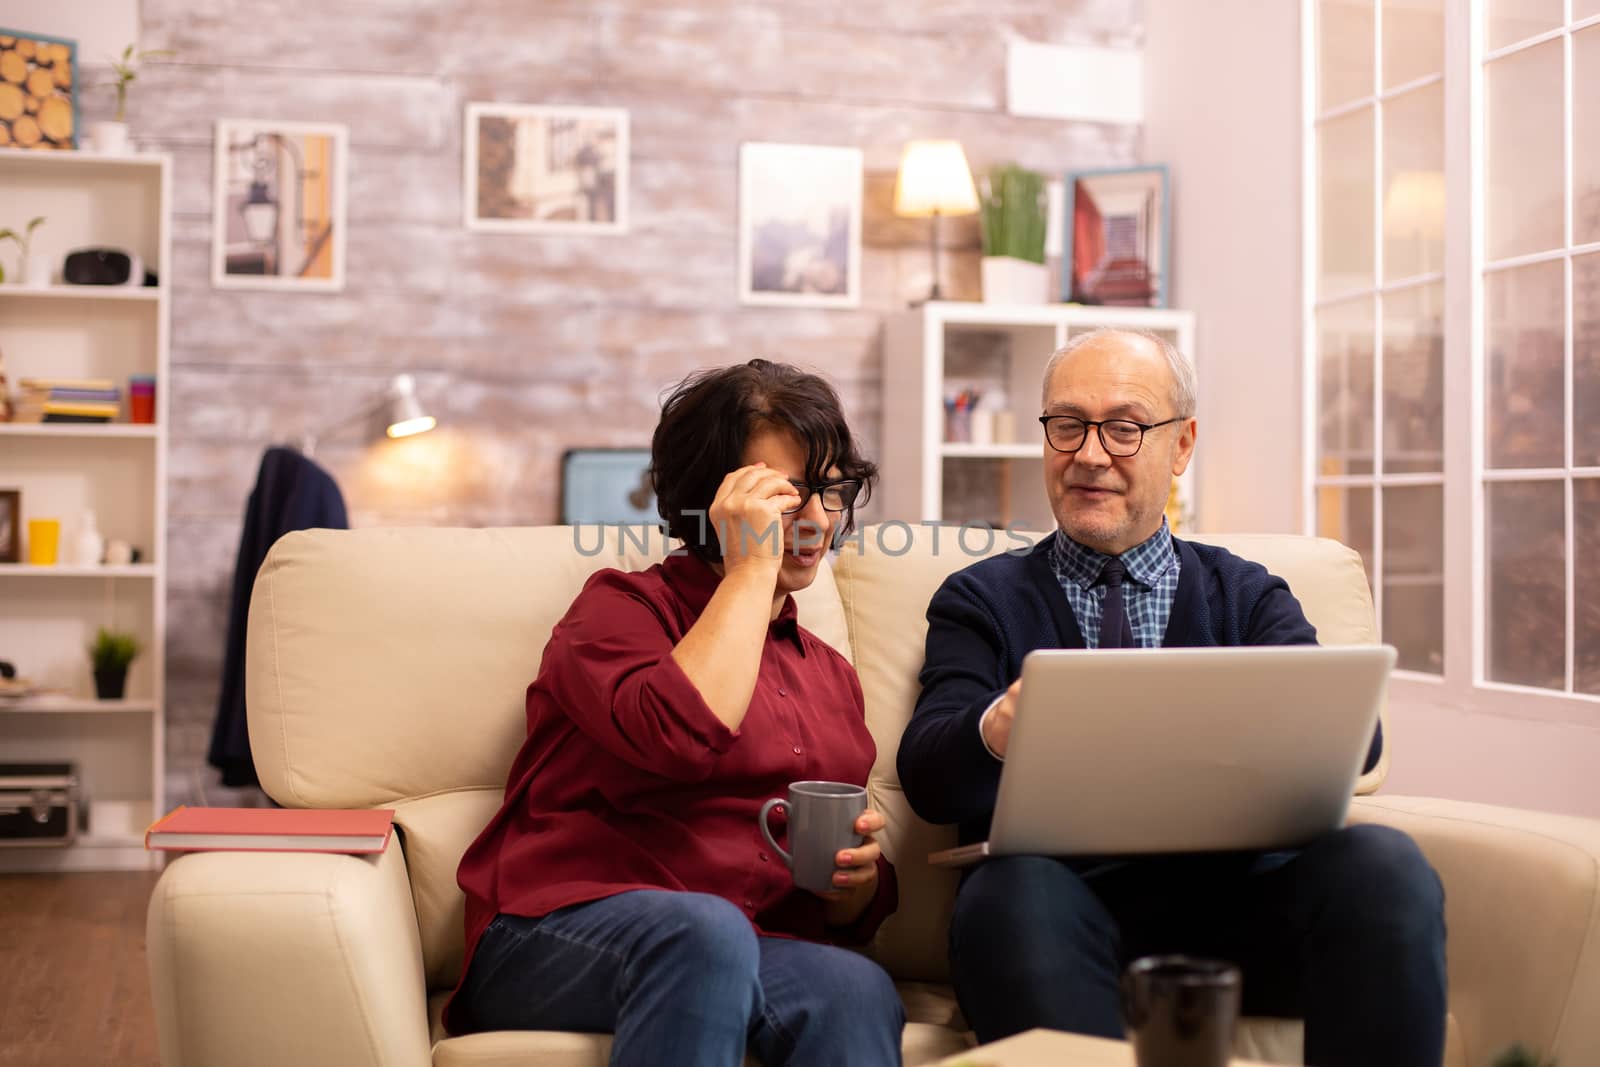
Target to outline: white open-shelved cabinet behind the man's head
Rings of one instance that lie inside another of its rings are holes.
[[[971,304],[931,301],[885,325],[882,478],[874,522],[989,523],[1053,530],[1045,498],[1045,435],[1038,424],[1050,354],[1099,326],[1149,330],[1190,360],[1194,315],[1144,307]],[[946,398],[1003,395],[1010,418],[992,434],[950,434]],[[1010,424],[1011,434],[1005,434]],[[987,438],[987,440],[984,440]],[[1194,466],[1178,480],[1168,517],[1174,530],[1195,514]]]

